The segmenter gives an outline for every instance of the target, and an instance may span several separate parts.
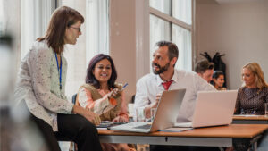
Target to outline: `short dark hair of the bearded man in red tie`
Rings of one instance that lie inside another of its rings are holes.
[[[158,41],[155,46],[168,46],[169,59],[172,60],[174,57],[179,58],[179,49],[176,44],[170,41]],[[175,63],[176,64],[176,63]]]

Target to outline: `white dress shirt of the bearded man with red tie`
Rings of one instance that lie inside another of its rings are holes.
[[[178,111],[177,122],[191,122],[197,99],[197,92],[216,89],[193,71],[180,71],[175,69],[172,80],[172,85],[169,88],[170,90],[186,88],[180,111]],[[154,73],[147,74],[139,79],[137,82],[134,108],[146,107],[147,105],[154,103],[155,96],[164,91],[162,85],[163,82],[164,81],[160,76]]]

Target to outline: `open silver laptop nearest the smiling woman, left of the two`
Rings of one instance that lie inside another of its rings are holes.
[[[185,91],[185,88],[163,91],[153,122],[129,122],[110,127],[110,130],[149,133],[171,128],[176,122]]]

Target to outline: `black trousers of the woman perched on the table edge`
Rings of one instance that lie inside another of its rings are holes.
[[[37,124],[50,151],[61,151],[58,141],[74,141],[79,151],[102,151],[96,126],[79,114],[58,113],[58,131],[55,132],[31,113],[29,118]]]

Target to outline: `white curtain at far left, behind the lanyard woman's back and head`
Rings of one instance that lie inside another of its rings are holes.
[[[21,58],[44,36],[56,0],[21,0]]]

